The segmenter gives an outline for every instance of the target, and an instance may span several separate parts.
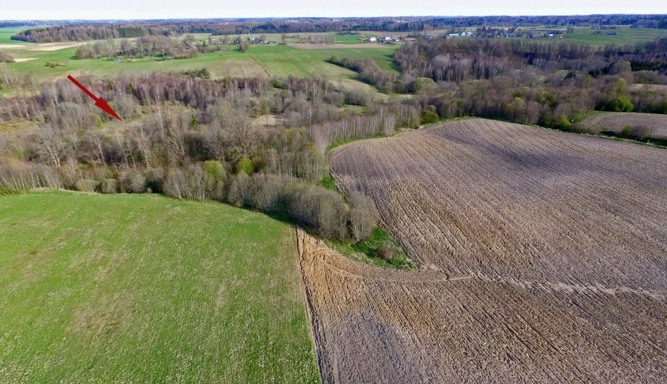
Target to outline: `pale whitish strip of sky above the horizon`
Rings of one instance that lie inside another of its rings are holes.
[[[667,13],[667,0],[1,0],[0,20]]]

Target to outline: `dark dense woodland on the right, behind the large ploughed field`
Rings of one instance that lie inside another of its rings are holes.
[[[399,48],[395,60],[402,78],[394,90],[419,94],[422,107],[440,117],[587,131],[577,123],[592,110],[667,114],[666,94],[632,88],[667,84],[664,38],[598,50],[521,40],[419,40]]]

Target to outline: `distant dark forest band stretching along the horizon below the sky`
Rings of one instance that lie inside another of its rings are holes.
[[[73,22],[50,23],[48,28],[31,28],[13,35],[15,40],[33,43],[54,41],[106,40],[136,38],[143,35],[176,36],[184,33],[238,35],[246,33],[307,33],[343,31],[433,31],[473,26],[612,26],[629,25],[667,28],[666,15],[591,15],[591,16],[485,16],[399,18],[267,18],[207,19],[181,21]],[[2,24],[0,23],[0,26]]]

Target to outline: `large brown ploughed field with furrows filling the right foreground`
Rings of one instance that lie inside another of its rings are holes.
[[[420,268],[297,234],[325,383],[667,380],[667,151],[469,119],[331,172]]]

